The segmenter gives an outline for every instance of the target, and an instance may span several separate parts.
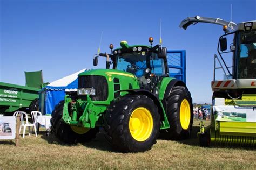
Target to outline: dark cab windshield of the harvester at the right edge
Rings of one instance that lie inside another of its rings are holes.
[[[240,33],[238,79],[256,78],[256,31]]]

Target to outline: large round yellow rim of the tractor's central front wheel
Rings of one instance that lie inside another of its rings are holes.
[[[133,110],[129,120],[129,130],[133,139],[147,140],[153,131],[153,118],[150,111],[144,107]]]

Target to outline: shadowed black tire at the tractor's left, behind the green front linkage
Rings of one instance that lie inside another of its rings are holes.
[[[64,143],[76,144],[78,142],[89,141],[96,137],[99,128],[90,129],[84,134],[74,132],[70,126],[62,121],[64,101],[60,101],[52,111],[51,130],[53,134]]]

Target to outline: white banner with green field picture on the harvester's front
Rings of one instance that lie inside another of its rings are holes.
[[[213,112],[217,121],[256,122],[256,109],[235,105],[214,105]]]

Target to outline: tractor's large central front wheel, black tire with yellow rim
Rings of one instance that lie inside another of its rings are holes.
[[[107,109],[104,129],[107,140],[119,151],[150,150],[159,136],[158,107],[145,95],[126,95]]]

